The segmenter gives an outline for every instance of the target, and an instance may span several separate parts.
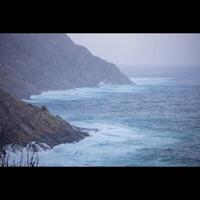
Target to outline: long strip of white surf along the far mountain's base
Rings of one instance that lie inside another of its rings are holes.
[[[123,94],[123,93],[138,93],[147,89],[148,85],[172,85],[176,84],[173,77],[166,78],[130,78],[136,85],[113,85],[110,83],[100,82],[98,87],[74,88],[60,91],[42,92],[40,95],[32,95],[30,100],[25,100],[30,103],[46,103],[52,100],[78,100],[90,98],[102,98],[106,94]]]

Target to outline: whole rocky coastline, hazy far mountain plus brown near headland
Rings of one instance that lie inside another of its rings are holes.
[[[0,34],[0,148],[30,144],[35,150],[45,149],[89,136],[89,129],[21,100],[42,91],[95,87],[100,82],[133,84],[116,65],[92,55],[66,34]]]

